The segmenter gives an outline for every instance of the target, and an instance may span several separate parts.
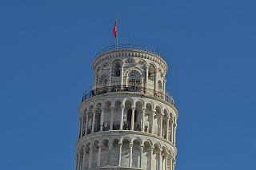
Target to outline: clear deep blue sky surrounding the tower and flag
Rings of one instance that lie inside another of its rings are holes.
[[[118,42],[169,66],[177,170],[256,168],[256,2],[0,2],[0,169],[74,169],[92,62]]]

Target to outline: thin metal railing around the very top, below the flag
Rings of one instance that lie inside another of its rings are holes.
[[[151,49],[150,47],[146,47],[143,45],[134,45],[134,44],[118,44],[118,45],[107,46],[105,49],[100,50],[96,54],[95,58],[98,57],[99,55],[102,55],[102,53],[107,53],[107,52],[118,50],[118,49],[138,49],[138,50],[146,51],[148,53],[153,53],[158,57],[161,57],[163,60],[165,60],[165,58],[162,56],[160,52],[154,49]]]

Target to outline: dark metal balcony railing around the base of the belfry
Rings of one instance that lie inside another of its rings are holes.
[[[91,90],[90,90],[91,89]],[[154,97],[158,97],[162,100],[168,101],[171,105],[174,105],[174,98],[166,91],[166,93],[155,91],[154,89],[147,89],[141,86],[132,85],[114,85],[106,86],[102,88],[93,89],[92,86],[86,89],[82,95],[82,102],[86,101],[90,97],[98,96],[104,93],[118,93],[118,92],[131,92],[131,93],[144,93]]]

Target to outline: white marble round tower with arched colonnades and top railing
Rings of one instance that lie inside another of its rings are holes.
[[[162,54],[113,45],[97,53],[93,69],[78,109],[75,170],[174,170],[178,111]]]

